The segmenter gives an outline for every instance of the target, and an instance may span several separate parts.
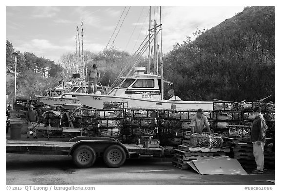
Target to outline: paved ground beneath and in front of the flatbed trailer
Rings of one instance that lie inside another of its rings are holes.
[[[10,131],[6,134],[10,139]],[[68,141],[71,137],[51,137],[49,141]],[[20,140],[26,139],[21,134]],[[38,134],[38,141],[48,138]],[[6,183],[9,184],[91,184],[91,185],[274,185],[274,170],[264,174],[201,175],[192,169],[182,170],[172,166],[171,157],[127,159],[120,168],[108,168],[98,158],[91,168],[79,169],[71,156],[6,154]],[[243,188],[244,190],[244,188]]]

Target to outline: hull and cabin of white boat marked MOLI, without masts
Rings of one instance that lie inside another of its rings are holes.
[[[159,108],[212,110],[213,102],[163,100],[161,97],[161,76],[136,72],[106,95],[67,93],[76,96],[87,107],[102,109],[104,102],[127,102],[129,108]]]

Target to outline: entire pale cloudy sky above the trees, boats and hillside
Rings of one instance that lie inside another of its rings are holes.
[[[243,8],[162,6],[163,53],[186,40],[185,36],[193,36],[197,27],[210,29]],[[77,26],[81,49],[83,22],[84,50],[100,52],[108,44],[131,54],[148,34],[148,13],[149,6],[7,6],[6,38],[15,50],[56,62],[63,54],[76,51]],[[151,8],[151,20],[160,23],[159,7]]]

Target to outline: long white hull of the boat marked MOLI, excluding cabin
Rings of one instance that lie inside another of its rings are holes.
[[[80,102],[87,107],[102,109],[104,102],[128,102],[128,108],[155,108],[155,109],[179,109],[179,110],[213,110],[213,102],[200,101],[172,101],[172,100],[148,100],[138,98],[124,98],[110,95],[75,94]]]

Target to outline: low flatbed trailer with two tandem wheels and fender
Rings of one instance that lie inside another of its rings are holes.
[[[108,167],[120,167],[126,158],[160,157],[163,148],[143,148],[142,145],[122,144],[107,137],[75,137],[69,142],[7,140],[7,153],[31,155],[68,155],[79,168],[91,167],[97,157],[103,157]]]

